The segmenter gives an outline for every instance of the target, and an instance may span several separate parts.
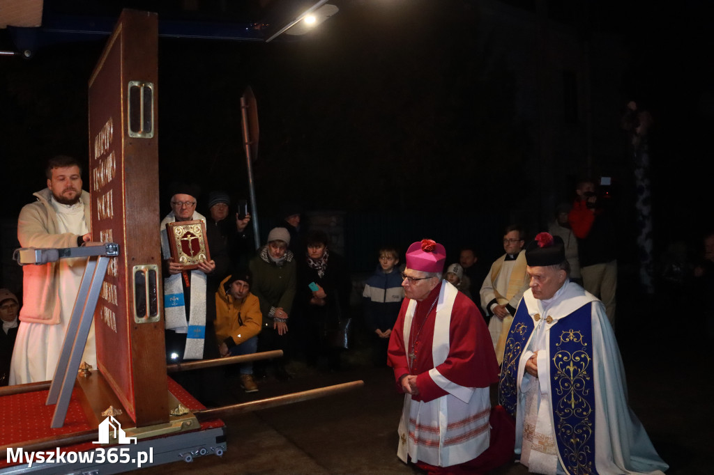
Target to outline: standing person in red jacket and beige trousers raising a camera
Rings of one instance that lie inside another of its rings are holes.
[[[568,213],[568,222],[578,237],[583,287],[605,304],[605,313],[614,329],[615,290],[618,286],[615,227],[600,203],[592,180],[580,181],[575,193],[578,196]]]

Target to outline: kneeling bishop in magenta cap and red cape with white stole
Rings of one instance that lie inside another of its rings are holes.
[[[496,354],[476,305],[441,279],[445,259],[443,245],[433,240],[414,242],[406,252],[406,298],[388,349],[405,393],[397,454],[428,473],[481,473],[508,461],[513,439],[504,444],[491,434],[488,387],[498,380]],[[499,447],[505,450],[496,454]]]

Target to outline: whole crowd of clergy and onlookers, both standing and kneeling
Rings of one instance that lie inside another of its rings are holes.
[[[46,178],[47,188],[21,212],[20,245],[91,245],[81,165],[55,157]],[[305,232],[301,210],[286,205],[281,224],[256,246],[247,233],[250,213],[231,213],[228,193],[208,195],[208,216],[197,211],[199,195],[174,183],[171,212],[159,225],[167,362],[282,350],[236,367],[246,392],[257,392],[266,377],[294,377],[288,363],[298,357],[340,371],[346,344],[336,335],[353,316],[353,285],[325,230]],[[446,250],[433,240],[414,242],[404,255],[391,245],[378,250],[363,287],[363,326],[373,363],[388,364],[406,394],[398,428],[403,461],[429,473],[483,473],[514,453],[543,474],[667,468],[628,407],[614,333],[612,219],[593,181],[578,183],[575,195],[533,240],[518,225],[506,227],[504,253],[490,268],[473,247],[446,265]],[[167,226],[194,221],[205,225],[210,257],[187,267],[171,252]],[[714,234],[704,242],[694,275],[710,288]],[[81,259],[26,266],[21,299],[0,289],[0,384],[51,379],[83,267]],[[83,359],[96,364],[91,335]],[[176,378],[198,399],[219,404],[225,371]]]

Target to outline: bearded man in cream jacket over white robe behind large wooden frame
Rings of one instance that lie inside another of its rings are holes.
[[[57,155],[48,161],[45,174],[47,188],[34,193],[37,200],[20,211],[17,238],[21,247],[79,247],[89,242],[89,193],[82,190],[79,161]],[[86,261],[86,257],[71,257],[22,267],[24,305],[10,384],[54,377]],[[96,367],[94,322],[82,361]]]

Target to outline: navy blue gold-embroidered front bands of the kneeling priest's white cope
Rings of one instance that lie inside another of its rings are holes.
[[[592,303],[560,318],[550,328],[550,407],[563,468],[568,474],[596,474],[595,380],[593,379]],[[518,305],[506,340],[499,383],[499,403],[516,417],[518,361],[533,334],[535,317]],[[543,320],[546,320],[543,318]],[[545,325],[545,322],[541,323]]]

